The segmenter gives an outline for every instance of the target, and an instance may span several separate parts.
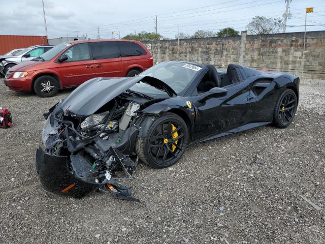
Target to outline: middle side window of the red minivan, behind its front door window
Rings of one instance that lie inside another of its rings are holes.
[[[115,58],[120,56],[117,42],[89,43],[93,59]]]

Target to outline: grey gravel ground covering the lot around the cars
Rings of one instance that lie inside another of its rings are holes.
[[[287,129],[193,145],[167,169],[140,164],[136,178],[123,183],[141,203],[41,189],[34,158],[42,114],[70,92],[42,99],[0,80],[0,106],[14,120],[0,130],[1,243],[325,243],[325,81],[301,83]]]

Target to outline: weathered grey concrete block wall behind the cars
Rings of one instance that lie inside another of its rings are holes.
[[[247,35],[239,37],[146,41],[151,43],[155,62],[185,60],[211,64],[225,69],[228,64],[293,73],[304,77],[325,79],[325,31],[307,32],[305,62],[304,33]],[[158,48],[159,47],[159,48]]]

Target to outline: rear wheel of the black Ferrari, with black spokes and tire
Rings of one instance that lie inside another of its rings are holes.
[[[285,89],[279,97],[274,109],[274,125],[278,128],[285,128],[295,118],[298,100],[296,93],[291,89]]]

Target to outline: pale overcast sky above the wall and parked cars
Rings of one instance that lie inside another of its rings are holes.
[[[0,35],[45,36],[42,0],[0,0]],[[122,38],[129,33],[155,32],[173,39],[179,32],[198,29],[218,32],[233,27],[241,32],[256,15],[283,18],[285,0],[44,0],[48,38],[87,36]],[[286,32],[325,31],[324,0],[291,0]],[[298,26],[297,26],[298,25]],[[114,32],[112,34],[112,32]]]

